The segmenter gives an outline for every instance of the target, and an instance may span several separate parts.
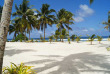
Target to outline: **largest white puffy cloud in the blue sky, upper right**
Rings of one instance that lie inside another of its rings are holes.
[[[77,11],[77,16],[74,17],[76,22],[84,21],[84,17],[89,17],[94,13],[94,10],[88,7],[86,4],[80,5],[79,10]]]

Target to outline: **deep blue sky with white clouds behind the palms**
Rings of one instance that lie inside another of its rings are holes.
[[[70,25],[72,31],[70,35],[86,36],[96,34],[100,36],[108,36],[110,33],[104,29],[103,21],[108,21],[108,11],[110,11],[110,0],[95,0],[92,5],[89,0],[29,0],[33,8],[40,10],[42,4],[49,4],[51,9],[57,12],[65,8],[74,14],[74,24]],[[14,0],[12,13],[15,12],[15,4],[19,5],[22,0]],[[4,4],[4,0],[0,0],[0,5]],[[13,19],[14,17],[11,17]],[[46,37],[52,35],[57,30],[56,25],[48,26],[46,29]],[[42,31],[32,30],[31,38],[39,38]],[[27,34],[28,36],[28,34]],[[13,38],[13,34],[8,35],[8,39]]]

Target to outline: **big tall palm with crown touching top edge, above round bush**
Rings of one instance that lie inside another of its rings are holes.
[[[19,16],[21,17],[21,24],[22,28],[24,29],[24,33],[26,35],[26,32],[29,33],[29,39],[30,39],[30,31],[32,28],[35,28],[37,18],[34,15],[34,9],[31,9],[31,6],[29,6],[28,0],[23,0],[22,4],[19,5],[19,7],[15,4],[16,12],[14,12],[13,16]]]

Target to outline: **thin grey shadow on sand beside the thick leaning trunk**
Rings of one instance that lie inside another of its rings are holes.
[[[4,56],[13,56],[15,54],[20,54],[23,52],[32,52],[32,51],[34,51],[34,50],[32,50],[32,49],[9,49],[9,50],[5,50]]]

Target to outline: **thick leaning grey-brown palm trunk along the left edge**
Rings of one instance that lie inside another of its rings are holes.
[[[5,43],[10,24],[10,16],[12,11],[13,0],[5,0],[1,23],[0,23],[0,74],[2,74],[3,56],[5,51]]]

